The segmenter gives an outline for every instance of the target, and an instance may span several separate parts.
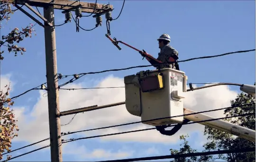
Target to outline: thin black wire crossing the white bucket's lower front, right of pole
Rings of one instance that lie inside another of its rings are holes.
[[[138,124],[138,123],[143,123],[143,122],[149,122],[149,121],[154,121],[154,120],[161,120],[161,119],[174,118],[174,117],[185,117],[185,116],[190,116],[190,115],[195,115],[195,114],[207,113],[207,112],[212,112],[212,111],[219,111],[219,110],[224,110],[224,109],[228,109],[228,108],[245,107],[245,106],[250,106],[250,105],[255,105],[255,103],[244,104],[244,105],[235,105],[233,107],[205,110],[205,111],[200,111],[200,112],[195,112],[195,113],[190,113],[190,114],[177,115],[177,116],[172,116],[172,117],[162,117],[162,118],[156,118],[156,119],[150,119],[150,120],[144,120],[144,121],[137,121],[137,122],[130,122],[130,123],[125,123],[125,124],[119,124],[119,125],[114,125],[114,126],[104,126],[104,127],[100,127],[100,128],[94,128],[94,129],[87,129],[87,130],[81,130],[81,131],[62,133],[62,136],[63,135],[71,135],[71,134],[80,133],[80,132],[87,132],[87,131],[93,131],[93,130],[113,128],[113,127],[118,127],[118,126],[128,126],[128,125],[133,125],[133,124]]]

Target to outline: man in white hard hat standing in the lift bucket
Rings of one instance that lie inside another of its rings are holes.
[[[171,38],[168,34],[162,34],[158,39],[158,45],[160,50],[160,53],[158,53],[158,57],[157,60],[161,61],[161,62],[176,62],[179,57],[178,57],[178,51],[176,51],[171,45],[169,45]],[[139,52],[143,57],[145,57],[145,54],[140,51]],[[151,64],[155,64],[153,62],[153,60],[151,60],[150,58],[146,57],[147,61],[149,61],[149,63]],[[176,70],[180,70],[179,69],[179,65],[178,63],[164,63],[164,64],[160,64],[159,66],[155,66],[157,68],[172,68],[172,69],[176,69]]]

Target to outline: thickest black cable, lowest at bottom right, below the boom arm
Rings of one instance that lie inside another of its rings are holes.
[[[194,156],[206,156],[206,155],[227,154],[227,153],[247,153],[247,152],[255,152],[255,147],[208,151],[208,152],[200,152],[200,153],[182,153],[182,154],[164,155],[164,156],[149,156],[149,157],[141,157],[141,158],[119,159],[119,160],[109,160],[109,161],[100,161],[100,162],[135,162],[135,161],[174,159],[174,158],[184,158],[184,157],[194,157]]]

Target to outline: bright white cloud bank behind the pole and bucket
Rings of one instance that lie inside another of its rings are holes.
[[[124,86],[123,79],[109,76],[101,81],[96,80],[97,87],[109,87],[109,86]],[[94,83],[89,83],[93,84]],[[84,84],[68,84],[65,88],[81,88],[85,87]],[[17,117],[19,118],[18,126],[20,128],[19,136],[15,138],[15,141],[27,141],[37,142],[41,139],[49,136],[48,128],[48,108],[47,108],[47,97],[42,95],[45,91],[40,91],[40,97],[38,98],[37,104],[33,107],[30,112],[25,112],[24,109],[19,109]],[[187,92],[185,99],[185,108],[189,108],[195,111],[210,110],[214,108],[222,108],[230,105],[229,101],[235,99],[237,92],[229,90],[228,86],[216,86],[203,90],[195,90]],[[125,101],[125,90],[124,89],[97,89],[97,90],[60,90],[60,110],[70,110],[74,108],[87,107],[91,105],[105,105],[116,102]],[[17,112],[16,111],[16,112]],[[213,117],[223,116],[223,111],[211,112]],[[66,124],[73,116],[61,117],[61,123]],[[61,131],[77,131],[88,128],[96,128],[101,126],[111,126],[122,123],[128,123],[133,121],[140,121],[140,117],[133,116],[128,113],[124,105],[104,108],[100,110],[85,112],[77,114],[74,117],[71,124],[62,126]],[[82,136],[86,135],[101,135],[108,133],[117,133],[122,131],[130,131],[136,129],[145,129],[151,126],[136,124],[132,126],[115,127],[110,129],[102,129],[97,131],[82,133]],[[173,136],[161,135],[156,130],[142,131],[136,133],[128,133],[123,135],[112,135],[102,137],[102,142],[106,140],[114,141],[136,141],[136,142],[151,142],[151,143],[162,143],[170,144],[179,142],[179,135],[189,134],[192,132],[202,131],[203,126],[195,124],[193,126],[183,126],[179,132]],[[27,132],[33,133],[33,136],[27,136]],[[81,135],[81,134],[79,134]],[[67,139],[67,136],[63,137]],[[198,137],[202,138],[202,137]],[[49,141],[41,143],[41,145],[48,144]],[[65,145],[65,144],[64,144]]]

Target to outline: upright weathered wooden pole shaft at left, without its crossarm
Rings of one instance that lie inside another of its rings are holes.
[[[54,25],[54,7],[44,7],[44,17]],[[55,42],[55,27],[50,27],[45,22],[46,46],[46,78],[48,96],[48,114],[50,129],[51,161],[62,162],[61,124],[59,114],[59,90],[57,77],[57,56]]]

